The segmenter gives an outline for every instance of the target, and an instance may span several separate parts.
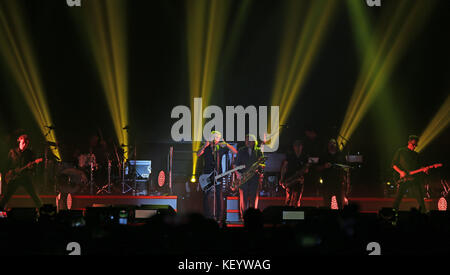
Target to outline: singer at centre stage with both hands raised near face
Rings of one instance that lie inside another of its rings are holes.
[[[206,143],[202,146],[200,150],[197,151],[197,156],[203,156],[204,165],[203,165],[203,174],[211,174],[210,179],[214,181],[214,177],[216,174],[222,173],[222,157],[231,151],[233,154],[237,153],[237,150],[226,143],[222,139],[222,134],[218,131],[211,132],[211,139],[206,141]],[[221,179],[219,179],[221,181]],[[215,194],[215,199],[214,199]],[[215,207],[214,207],[215,200]],[[211,188],[203,194],[203,210],[204,215],[207,218],[214,218],[218,221],[222,220],[223,212],[222,212],[222,185],[217,184],[216,188]],[[215,213],[214,213],[215,209]]]

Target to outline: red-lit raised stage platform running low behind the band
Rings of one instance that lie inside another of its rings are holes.
[[[57,198],[54,195],[42,195],[41,199],[44,204],[55,205]],[[227,221],[235,222],[239,220],[239,198],[226,198],[226,213]],[[63,202],[67,200],[62,198]],[[354,197],[348,199],[349,203],[357,204],[359,211],[362,213],[377,213],[384,207],[392,207],[394,198],[375,198],[375,197]],[[428,210],[438,210],[438,199],[425,199],[425,205]],[[198,202],[196,202],[198,203]],[[184,203],[185,204],[185,203]],[[284,197],[260,197],[258,208],[263,211],[269,206],[282,206],[284,204]],[[179,213],[188,212],[187,207],[183,209],[183,203],[179,201],[177,196],[129,196],[129,195],[104,195],[104,196],[90,196],[90,195],[73,195],[69,207],[73,210],[86,209],[92,206],[117,206],[117,205],[170,205],[175,211]],[[15,195],[9,202],[8,208],[14,207],[33,207],[33,201],[28,195]],[[320,197],[304,197],[302,199],[302,206],[306,207],[322,207],[322,198]],[[400,210],[408,211],[411,208],[418,208],[415,199],[404,198],[400,205]],[[62,207],[64,209],[65,207]]]

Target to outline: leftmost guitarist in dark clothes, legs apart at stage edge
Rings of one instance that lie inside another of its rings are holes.
[[[18,147],[11,149],[8,153],[6,171],[23,168],[29,163],[35,161],[34,154],[30,149],[30,139],[28,135],[19,136],[17,138],[17,143]],[[42,206],[42,201],[39,198],[32,183],[31,168],[27,168],[22,171],[22,173],[20,173],[18,177],[7,183],[5,195],[0,201],[0,210],[5,209],[6,204],[20,186],[22,186],[30,194],[31,198],[38,208]]]

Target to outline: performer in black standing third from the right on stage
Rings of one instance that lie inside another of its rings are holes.
[[[302,141],[294,141],[292,151],[281,164],[280,184],[286,190],[287,206],[300,207],[305,184],[304,175],[308,173],[307,163],[308,158],[303,154]]]

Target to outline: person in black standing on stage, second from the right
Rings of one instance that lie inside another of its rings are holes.
[[[319,171],[322,178],[322,195],[325,207],[331,208],[331,199],[336,196],[339,209],[344,206],[344,170],[337,164],[342,164],[345,157],[339,151],[335,139],[328,141],[327,152],[320,158]]]

